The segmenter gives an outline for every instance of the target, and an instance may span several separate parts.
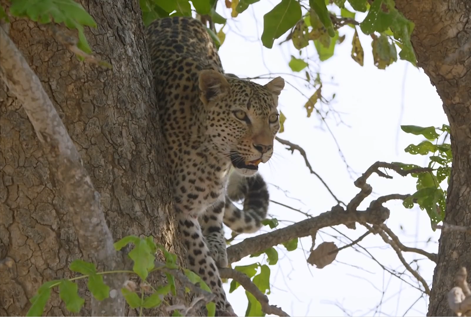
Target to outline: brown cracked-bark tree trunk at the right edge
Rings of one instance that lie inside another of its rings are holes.
[[[471,1],[396,0],[415,23],[412,43],[418,65],[443,101],[451,129],[453,167],[445,222],[471,225]],[[447,292],[461,266],[470,269],[471,236],[442,230],[428,316],[454,316]]]

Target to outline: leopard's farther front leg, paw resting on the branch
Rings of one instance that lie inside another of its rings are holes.
[[[214,203],[208,207],[199,218],[199,223],[203,230],[203,236],[206,239],[211,257],[216,262],[218,268],[227,267],[226,238],[224,237],[224,228],[222,226],[224,219],[224,201]]]

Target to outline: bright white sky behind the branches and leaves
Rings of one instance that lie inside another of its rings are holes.
[[[223,2],[219,4],[219,13],[229,18],[224,28],[227,33],[226,41],[219,50],[227,73],[235,73],[240,77],[292,73],[288,61],[290,55],[298,57],[298,51],[291,41],[279,46],[278,43],[285,38],[282,36],[275,41],[273,49],[265,49],[259,40],[263,31],[263,15],[278,2],[260,1],[235,19],[230,19],[230,10],[221,8]],[[357,16],[357,20],[361,21],[362,18],[363,16]],[[318,69],[322,74],[323,95],[331,97],[333,93],[336,94],[331,106],[341,114],[344,124],[337,124],[334,116],[329,116],[327,123],[346,162],[353,170],[351,176],[332,135],[325,125],[320,125],[316,115],[306,117],[304,104],[307,98],[289,84],[286,84],[279,101],[279,108],[287,117],[285,132],[279,134],[279,137],[302,146],[313,169],[339,199],[348,203],[359,191],[353,185],[353,179],[374,162],[426,164],[426,157],[404,152],[407,145],[417,144],[422,138],[402,132],[400,124],[439,127],[447,123],[447,118],[436,89],[421,69],[398,61],[386,70],[378,70],[373,65],[371,38],[362,33],[360,40],[365,50],[365,66],[361,67],[350,57],[353,29],[343,27],[340,34],[346,34],[345,41],[335,48],[334,56],[323,63],[317,63],[317,53],[310,42],[309,67],[314,71]],[[305,53],[303,54],[305,57]],[[304,77],[304,72],[299,75]],[[314,92],[306,89],[302,80],[291,75],[282,76],[306,96],[311,96]],[[268,80],[258,82],[265,84]],[[297,152],[292,155],[277,142],[273,158],[270,163],[260,167],[260,172],[269,184],[273,184],[269,187],[273,200],[313,216],[328,211],[335,205],[322,183],[309,174],[301,155]],[[373,186],[372,196],[415,191],[414,178],[403,178],[393,171],[390,175],[394,178],[380,179],[374,174],[369,179],[368,183]],[[365,209],[370,201],[371,199],[366,199],[359,209]],[[403,244],[437,252],[439,231],[434,233],[431,230],[425,211],[418,207],[406,209],[401,201],[390,201],[385,205],[391,211],[387,225]],[[277,219],[292,222],[306,219],[299,212],[275,203],[270,204],[269,213]],[[289,224],[286,221],[280,226]],[[357,230],[347,229],[343,225],[336,229],[352,240],[365,233],[365,228],[359,225]],[[262,228],[262,232],[269,230],[268,227]],[[230,236],[229,232],[227,236]],[[242,241],[246,237],[249,235],[239,236],[236,241]],[[317,234],[317,245],[323,241],[332,241],[338,247],[350,242],[331,228],[325,228]],[[384,244],[381,237],[369,235],[360,245],[385,267],[404,270],[396,253]],[[428,298],[421,298],[421,292],[414,289],[417,281],[410,274],[406,274],[404,278],[414,286],[397,277],[391,277],[365,255],[365,251],[358,252],[353,248],[342,250],[331,265],[318,269],[306,262],[311,247],[310,237],[301,239],[298,246],[298,250],[293,252],[286,252],[283,246],[276,247],[280,260],[276,265],[270,266],[270,303],[281,307],[291,316],[426,315]],[[414,253],[404,253],[404,256],[409,262],[419,260],[417,263],[420,273],[431,286],[434,264],[428,259],[420,260],[424,257]],[[245,258],[236,265],[252,264],[255,261],[266,263],[263,256],[260,256],[256,259]],[[415,264],[412,266],[414,268]],[[228,293],[229,285],[226,286]],[[238,316],[245,316],[247,299],[244,290],[239,287],[234,293],[228,294],[228,299]]]

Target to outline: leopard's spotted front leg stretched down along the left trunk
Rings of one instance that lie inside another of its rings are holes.
[[[234,314],[231,304],[226,299],[219,270],[203,238],[198,219],[182,212],[178,207],[177,218],[179,231],[182,234],[183,243],[187,249],[188,268],[197,273],[211,288],[211,292],[216,294],[216,308]]]

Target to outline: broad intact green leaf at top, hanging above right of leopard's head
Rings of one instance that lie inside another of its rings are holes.
[[[301,6],[297,0],[281,0],[270,12],[263,16],[263,33],[261,40],[268,49],[273,41],[301,19]]]

